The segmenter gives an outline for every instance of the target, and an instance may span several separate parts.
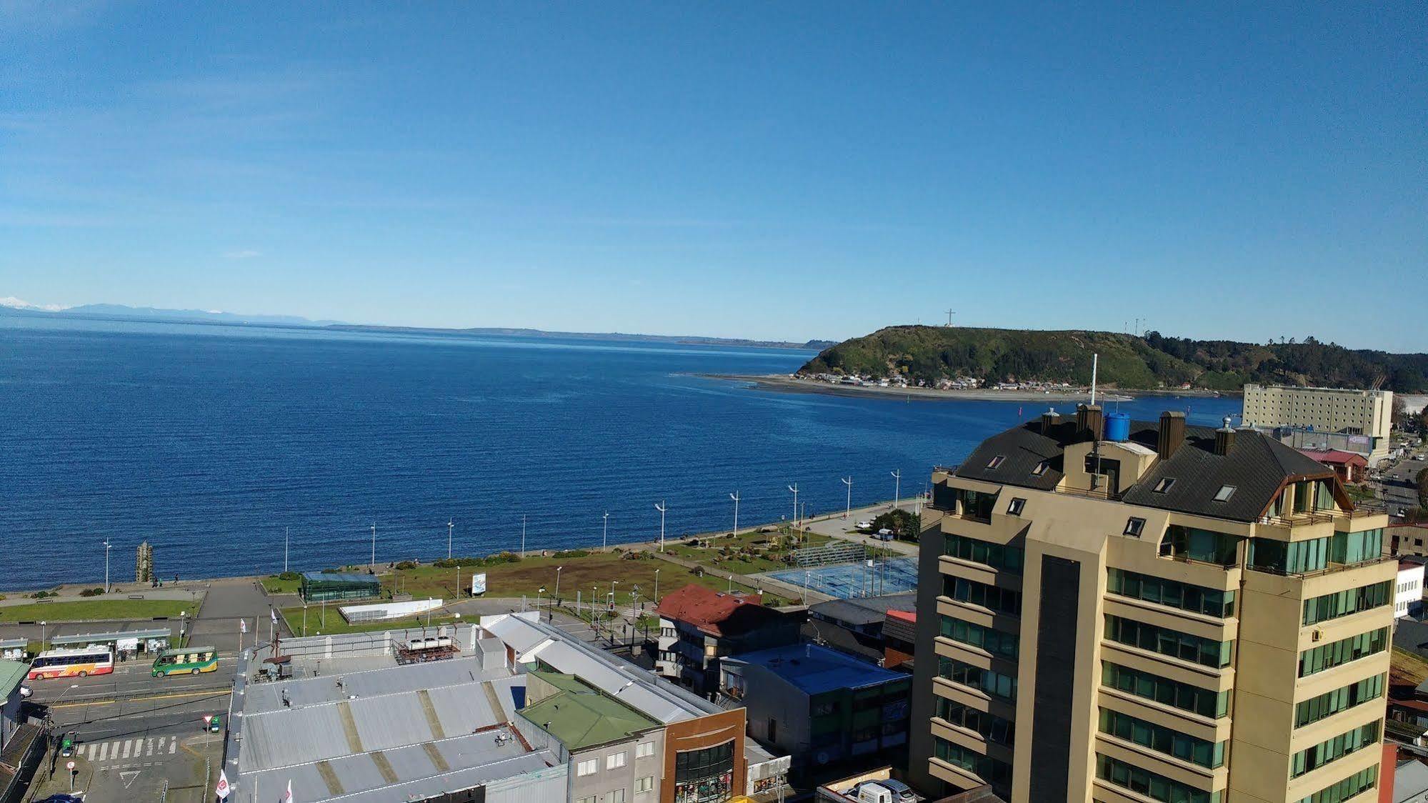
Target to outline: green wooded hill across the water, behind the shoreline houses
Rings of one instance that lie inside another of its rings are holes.
[[[894,376],[928,384],[940,379],[1091,381],[1100,354],[1101,384],[1122,389],[1240,390],[1247,381],[1428,391],[1428,354],[1351,350],[1309,337],[1304,343],[1237,343],[1145,337],[1115,331],[1037,331],[942,326],[890,326],[824,349],[803,374]]]

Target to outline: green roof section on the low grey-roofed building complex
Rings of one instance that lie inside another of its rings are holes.
[[[521,709],[521,714],[544,727],[567,750],[581,750],[627,739],[635,733],[660,727],[660,723],[600,692],[574,674],[533,672],[536,677],[560,689],[538,703]]]

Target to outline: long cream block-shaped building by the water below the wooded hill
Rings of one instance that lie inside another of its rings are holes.
[[[1391,390],[1349,387],[1292,387],[1247,384],[1244,396],[1247,427],[1289,427],[1297,449],[1342,449],[1358,452],[1374,466],[1388,457],[1388,430],[1394,419]],[[1314,430],[1315,436],[1307,436]]]

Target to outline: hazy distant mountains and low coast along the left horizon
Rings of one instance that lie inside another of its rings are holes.
[[[507,337],[564,337],[580,340],[628,340],[645,343],[680,343],[687,346],[745,346],[754,349],[807,349],[818,350],[833,346],[833,340],[808,340],[791,343],[784,340],[745,340],[740,337],[700,337],[684,334],[628,334],[620,331],[545,331],[541,329],[434,329],[414,326],[370,326],[337,320],[310,320],[300,316],[238,314],[220,310],[166,310],[159,307],[129,307],[124,304],[80,304],[77,307],[30,304],[20,299],[0,299],[0,314],[31,317],[79,317],[99,320],[144,320],[159,323],[213,323],[224,326],[274,326],[316,327],[340,331],[384,331],[406,334],[466,334]]]

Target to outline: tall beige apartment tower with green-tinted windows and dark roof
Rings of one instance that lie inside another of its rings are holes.
[[[932,483],[914,782],[1012,803],[1377,800],[1397,563],[1387,516],[1331,469],[1252,430],[1082,406]]]

